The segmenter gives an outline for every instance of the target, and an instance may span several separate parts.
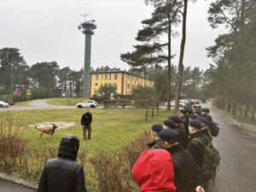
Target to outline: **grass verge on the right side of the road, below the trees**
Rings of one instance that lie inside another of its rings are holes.
[[[236,116],[233,115],[230,112],[221,111],[221,113],[224,113],[225,115],[228,115],[230,118],[235,119],[237,122],[241,123],[241,125],[246,126],[248,129],[256,132],[256,117],[254,118],[254,121],[251,121],[251,114],[249,113],[248,118],[244,117],[243,115],[240,115],[239,111],[236,111]]]

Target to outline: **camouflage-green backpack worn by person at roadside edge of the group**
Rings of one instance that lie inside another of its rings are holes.
[[[208,138],[207,138],[208,139]],[[220,156],[218,150],[212,146],[212,143],[209,141],[209,144],[205,144],[199,138],[194,138],[192,141],[201,143],[205,147],[205,155],[203,165],[199,167],[199,172],[201,173],[202,179],[207,181],[209,179],[214,179],[216,177],[217,168],[219,168]]]

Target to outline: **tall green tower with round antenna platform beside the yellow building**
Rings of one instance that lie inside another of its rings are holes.
[[[83,97],[90,97],[90,50],[91,50],[91,36],[94,35],[93,30],[96,29],[95,20],[88,20],[81,22],[78,26],[79,30],[85,34],[84,43],[84,84]]]

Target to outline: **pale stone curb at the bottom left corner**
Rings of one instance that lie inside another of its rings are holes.
[[[0,178],[5,180],[5,181],[9,181],[11,183],[21,184],[21,185],[23,185],[27,188],[38,189],[38,183],[32,182],[32,181],[27,181],[27,180],[22,179],[22,178],[17,177],[17,176],[8,175],[7,173],[4,173],[4,172],[0,172]]]

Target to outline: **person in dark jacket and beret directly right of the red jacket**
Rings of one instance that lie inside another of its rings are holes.
[[[196,170],[195,160],[189,151],[178,143],[177,137],[176,131],[169,129],[160,131],[160,139],[172,156],[176,192],[191,192],[195,189],[196,191],[203,191],[202,189],[199,190],[201,178]]]

